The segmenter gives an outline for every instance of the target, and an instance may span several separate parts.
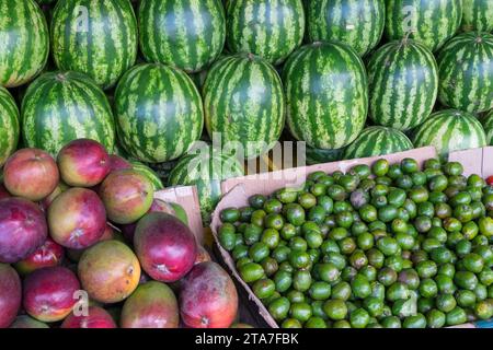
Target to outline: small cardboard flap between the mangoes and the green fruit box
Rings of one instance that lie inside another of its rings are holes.
[[[197,242],[202,245],[204,244],[200,206],[198,203],[197,188],[195,186],[169,187],[157,191],[154,198],[182,206],[188,217],[190,229],[197,237]]]

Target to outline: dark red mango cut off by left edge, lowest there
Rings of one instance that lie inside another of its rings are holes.
[[[18,272],[7,264],[0,264],[0,328],[9,327],[21,307],[22,285]]]

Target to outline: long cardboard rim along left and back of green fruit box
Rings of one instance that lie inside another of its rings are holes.
[[[253,302],[255,308],[259,311],[259,314],[264,318],[265,323],[273,328],[278,328],[279,327],[278,324],[271,316],[265,305],[262,304],[262,302],[253,294],[251,288],[239,276],[238,270],[234,266],[234,261],[229,252],[222,248],[222,246],[218,242],[217,230],[221,222],[219,214],[222,211],[222,209],[229,207],[246,206],[248,198],[251,195],[259,192],[265,195],[272,194],[274,190],[286,186],[288,182],[290,183],[290,185],[294,186],[300,185],[302,180],[305,180],[306,175],[316,171],[324,171],[329,173],[334,172],[336,170],[341,170],[345,172],[356,164],[370,165],[377,159],[387,159],[390,163],[395,163],[404,158],[414,158],[419,160],[420,163],[423,163],[425,160],[436,156],[437,156],[436,150],[432,147],[427,147],[405,152],[388,154],[383,156],[372,156],[359,160],[341,161],[341,162],[316,164],[311,166],[288,168],[268,173],[271,175],[261,174],[260,176],[263,178],[262,180],[260,180],[257,176],[242,176],[232,179],[227,179],[221,184],[223,196],[213,213],[213,221],[210,225],[215,244],[217,246],[217,249],[219,250],[218,258],[221,258],[223,260],[225,265],[229,268],[231,275],[234,277],[239,285],[241,285],[244,289],[244,291],[249,295],[249,301]]]

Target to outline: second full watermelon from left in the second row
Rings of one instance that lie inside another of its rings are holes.
[[[161,63],[138,65],[115,91],[118,139],[130,156],[147,163],[174,160],[200,137],[200,95],[183,71]]]

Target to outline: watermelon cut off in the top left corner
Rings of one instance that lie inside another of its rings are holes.
[[[0,85],[22,85],[43,70],[49,51],[48,25],[33,0],[0,2]]]

